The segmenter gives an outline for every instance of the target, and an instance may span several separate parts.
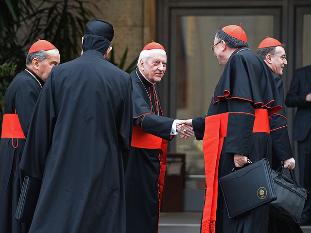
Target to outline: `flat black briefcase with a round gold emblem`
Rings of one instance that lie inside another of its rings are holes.
[[[265,158],[219,178],[219,183],[230,218],[276,200],[271,168]]]

